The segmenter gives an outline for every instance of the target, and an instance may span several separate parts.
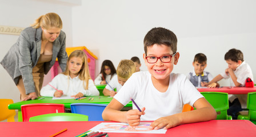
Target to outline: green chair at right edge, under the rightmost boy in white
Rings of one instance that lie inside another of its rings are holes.
[[[238,115],[237,119],[250,120],[256,124],[256,92],[247,94],[248,115]]]

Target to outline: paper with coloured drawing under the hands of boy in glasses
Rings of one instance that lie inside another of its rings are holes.
[[[91,128],[94,132],[119,132],[119,133],[148,133],[148,134],[165,134],[167,130],[150,130],[151,123],[142,122],[138,126],[129,126],[127,123],[105,123],[102,122]]]

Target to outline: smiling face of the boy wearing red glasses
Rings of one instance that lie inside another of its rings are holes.
[[[170,47],[166,45],[157,45],[154,44],[151,47],[147,47],[147,56],[143,54],[143,59],[149,70],[150,74],[152,75],[152,80],[166,80],[169,82],[169,75],[171,71],[173,71],[173,64],[177,65],[179,53],[174,55],[171,58],[171,62],[163,63],[161,59],[158,59],[155,63],[148,63],[146,57],[154,56],[154,57],[162,57],[164,55],[172,55],[173,51]]]

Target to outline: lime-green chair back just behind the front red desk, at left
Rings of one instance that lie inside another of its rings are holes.
[[[33,116],[29,119],[30,122],[55,122],[55,121],[88,121],[87,115],[74,113],[51,113]]]

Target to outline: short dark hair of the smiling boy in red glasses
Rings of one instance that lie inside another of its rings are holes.
[[[154,44],[166,45],[171,48],[173,53],[177,51],[177,37],[168,29],[163,27],[155,27],[151,29],[144,38],[144,51],[147,55],[147,47],[151,47]]]

